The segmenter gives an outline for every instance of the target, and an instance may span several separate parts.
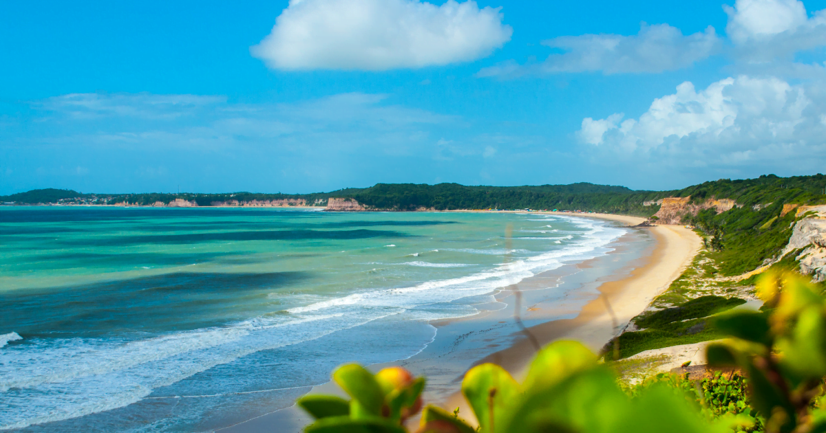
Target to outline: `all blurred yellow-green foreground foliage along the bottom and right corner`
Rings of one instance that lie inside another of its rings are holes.
[[[458,409],[428,405],[417,431],[824,431],[826,299],[792,274],[767,275],[759,293],[767,312],[733,310],[711,321],[715,332],[730,337],[707,353],[711,365],[728,369],[725,374],[696,381],[687,374],[657,374],[622,387],[610,363],[597,362],[575,341],[557,341],[539,351],[521,384],[494,364],[468,371],[462,393],[477,427]],[[344,365],[333,379],[350,399],[300,398],[298,405],[316,418],[308,433],[404,433],[405,421],[422,406],[425,379],[399,367],[371,374]]]

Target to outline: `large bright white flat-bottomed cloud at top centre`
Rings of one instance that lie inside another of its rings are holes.
[[[448,0],[291,0],[250,51],[286,70],[422,68],[491,54],[508,40],[501,8]]]

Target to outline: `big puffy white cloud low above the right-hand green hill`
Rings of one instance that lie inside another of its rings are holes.
[[[726,78],[699,92],[683,82],[638,119],[586,118],[577,136],[610,158],[698,166],[813,161],[826,155],[824,96],[779,78]]]

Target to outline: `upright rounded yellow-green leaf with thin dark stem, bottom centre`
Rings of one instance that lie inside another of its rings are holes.
[[[495,364],[473,367],[465,374],[462,393],[468,399],[482,432],[501,431],[501,417],[520,398],[520,385]]]

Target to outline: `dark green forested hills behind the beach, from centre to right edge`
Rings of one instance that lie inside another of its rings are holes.
[[[779,177],[709,181],[676,191],[633,191],[624,186],[590,183],[544,186],[462,186],[377,184],[346,195],[372,209],[559,209],[650,216],[657,200],[688,197],[691,201],[731,199],[738,205],[771,202],[811,204],[826,201],[826,176]]]

